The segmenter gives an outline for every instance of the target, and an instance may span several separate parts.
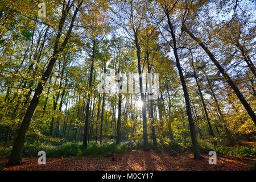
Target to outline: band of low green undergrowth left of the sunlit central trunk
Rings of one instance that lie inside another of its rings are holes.
[[[122,154],[132,148],[137,147],[135,142],[122,142],[115,144],[114,142],[96,143],[90,142],[88,148],[82,142],[40,142],[28,141],[24,143],[22,156],[38,156],[39,151],[45,151],[47,157],[60,156],[97,156],[103,154]],[[12,147],[0,146],[0,157],[8,158],[11,154]]]

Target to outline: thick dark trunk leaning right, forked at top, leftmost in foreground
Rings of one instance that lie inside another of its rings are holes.
[[[39,81],[38,86],[36,87],[34,96],[30,102],[30,105],[27,108],[26,114],[18,130],[18,134],[16,135],[16,138],[14,140],[13,150],[11,151],[11,156],[8,162],[9,166],[15,166],[22,163],[21,155],[22,155],[24,139],[26,136],[26,131],[30,125],[36,106],[38,105],[40,94],[42,94],[43,92],[44,85],[46,85],[48,78],[51,75],[54,64],[57,58],[59,57],[60,53],[63,52],[63,49],[68,43],[68,39],[71,36],[72,28],[73,28],[77,13],[80,10],[80,7],[82,5],[82,1],[79,2],[79,5],[76,6],[76,9],[73,13],[72,20],[71,20],[71,23],[69,24],[67,35],[65,36],[64,41],[60,42],[61,34],[63,34],[63,27],[64,27],[65,20],[67,19],[67,15],[71,10],[71,7],[73,7],[74,5],[75,5],[75,1],[73,2],[68,1],[67,5],[65,5],[65,3],[63,2],[62,14],[59,22],[59,30],[57,31],[57,36],[55,38],[53,55],[49,60],[49,64],[46,68],[46,71],[44,72],[42,78]]]

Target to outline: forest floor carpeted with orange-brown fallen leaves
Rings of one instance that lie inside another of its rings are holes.
[[[73,170],[168,170],[168,171],[240,171],[250,170],[251,164],[255,164],[256,159],[241,158],[229,155],[217,155],[217,164],[210,165],[208,154],[201,154],[204,159],[195,160],[189,152],[172,153],[166,151],[142,151],[132,150],[125,154],[114,154],[112,157],[102,155],[98,157],[65,157],[65,158],[47,158],[45,165],[38,164],[38,158],[23,158],[23,165],[6,167],[3,170],[26,170],[26,171],[73,171]],[[8,159],[0,159],[0,163],[7,163]]]

